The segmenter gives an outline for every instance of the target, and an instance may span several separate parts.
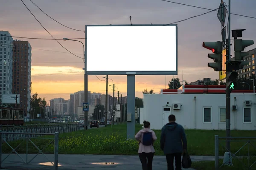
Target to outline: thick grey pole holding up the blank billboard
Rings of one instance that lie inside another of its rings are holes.
[[[127,75],[127,113],[131,113],[131,122],[127,122],[127,139],[135,135],[135,75]]]

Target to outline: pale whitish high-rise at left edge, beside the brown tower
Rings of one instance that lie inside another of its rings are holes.
[[[12,94],[12,47],[9,31],[0,31],[0,94]]]

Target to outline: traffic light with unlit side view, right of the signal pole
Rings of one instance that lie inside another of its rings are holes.
[[[248,61],[243,61],[244,57],[249,55],[249,52],[242,52],[244,48],[253,45],[253,40],[242,40],[242,39],[235,39],[234,40],[234,51],[235,51],[235,60],[241,61],[239,63],[239,69],[244,68],[245,65],[248,65]]]

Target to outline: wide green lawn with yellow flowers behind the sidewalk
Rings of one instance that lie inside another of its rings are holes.
[[[135,132],[141,129],[136,125]],[[155,155],[163,155],[160,150],[160,130],[154,130],[157,141],[154,143]],[[224,130],[185,130],[187,134],[189,155],[214,156],[214,135],[225,136]],[[255,131],[231,131],[232,136],[255,136]],[[32,139],[41,149],[48,139]],[[221,142],[225,146],[225,142]],[[18,141],[11,142],[13,147]],[[231,151],[236,152],[245,142],[231,142]],[[253,143],[254,145],[255,142]],[[126,140],[126,124],[119,127],[113,125],[108,127],[93,128],[91,130],[79,130],[72,133],[63,133],[59,136],[60,154],[115,154],[115,155],[137,155],[139,144],[135,140]],[[45,153],[53,153],[54,145],[50,144]],[[248,146],[239,152],[239,155],[247,155]],[[8,146],[2,147],[3,152],[11,151]],[[26,143],[19,147],[19,152],[26,153]],[[36,153],[35,147],[29,144],[29,153]],[[219,155],[224,156],[224,147],[219,147]],[[250,146],[250,155],[256,155],[256,149]]]

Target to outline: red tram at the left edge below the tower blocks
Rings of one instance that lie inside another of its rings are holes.
[[[0,108],[0,125],[23,125],[23,109]]]

